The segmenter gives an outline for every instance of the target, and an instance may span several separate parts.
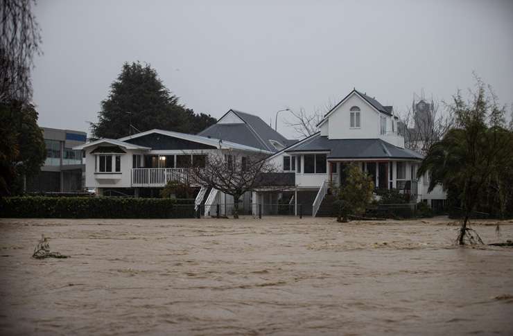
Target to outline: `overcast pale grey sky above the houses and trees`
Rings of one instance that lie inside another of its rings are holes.
[[[234,108],[274,124],[278,109],[311,110],[353,87],[403,110],[422,88],[449,99],[473,85],[472,71],[513,102],[513,1],[40,0],[35,14],[44,55],[34,101],[46,127],[89,133],[135,60],[216,118]]]

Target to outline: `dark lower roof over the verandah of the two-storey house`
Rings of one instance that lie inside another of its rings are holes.
[[[328,159],[423,159],[406,148],[399,148],[381,139],[328,139],[313,136],[285,152],[329,152]]]

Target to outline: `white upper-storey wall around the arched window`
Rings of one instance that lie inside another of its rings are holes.
[[[351,107],[360,108],[360,128],[351,128]],[[380,134],[379,117],[387,118],[388,134]],[[397,131],[397,127],[396,127]],[[392,117],[387,114],[380,113],[372,107],[366,100],[352,94],[347,100],[337,107],[328,117],[328,121],[320,126],[321,135],[327,135],[329,139],[382,139],[404,148],[404,138],[392,133]]]

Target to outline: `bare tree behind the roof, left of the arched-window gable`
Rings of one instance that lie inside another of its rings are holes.
[[[314,107],[311,113],[306,112],[306,109],[301,107],[299,111],[295,112],[293,109],[288,107],[292,118],[284,118],[285,125],[293,127],[297,135],[302,138],[311,136],[318,132],[317,125],[322,121],[324,115],[329,112],[336,103],[333,100],[328,100],[322,107]]]

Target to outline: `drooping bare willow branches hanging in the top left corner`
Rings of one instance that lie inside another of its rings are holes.
[[[0,0],[0,103],[30,103],[33,56],[40,54],[40,28],[32,13],[35,0]]]

